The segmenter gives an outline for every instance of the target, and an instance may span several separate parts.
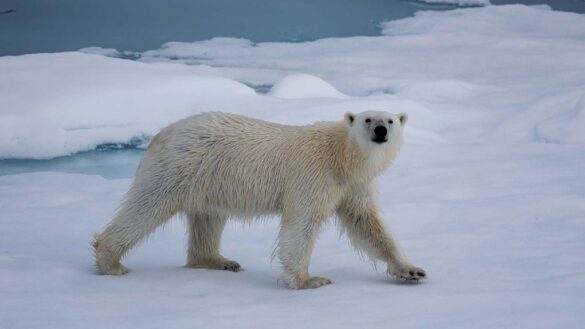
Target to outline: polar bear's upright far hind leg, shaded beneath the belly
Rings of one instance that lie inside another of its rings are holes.
[[[221,233],[227,218],[212,211],[190,211],[187,213],[189,226],[189,247],[187,267],[207,268],[239,272],[238,262],[229,260],[219,253]]]

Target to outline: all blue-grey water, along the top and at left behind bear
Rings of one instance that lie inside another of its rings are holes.
[[[585,13],[585,0],[491,3],[545,3],[555,10]],[[303,42],[378,35],[382,21],[454,8],[415,0],[0,0],[0,56],[90,46],[144,51],[168,41],[219,36]],[[58,171],[133,177],[143,152],[114,149],[51,160],[0,160],[0,175]]]

